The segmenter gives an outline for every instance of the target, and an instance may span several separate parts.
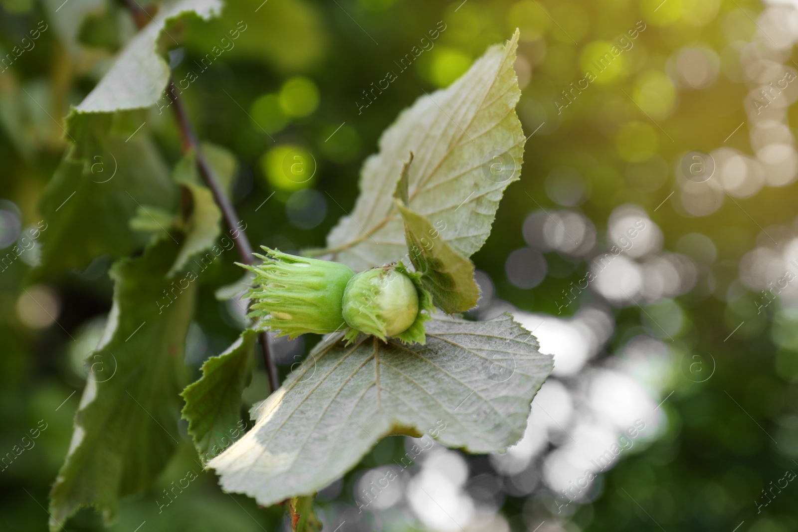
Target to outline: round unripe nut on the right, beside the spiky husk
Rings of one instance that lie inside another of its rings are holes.
[[[416,286],[393,266],[362,271],[346,283],[343,317],[352,329],[385,340],[407,330],[417,315]]]

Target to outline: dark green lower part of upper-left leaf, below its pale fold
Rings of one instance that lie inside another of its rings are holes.
[[[174,187],[157,149],[145,136],[97,140],[85,163],[61,160],[41,196],[48,231],[41,234],[41,266],[35,278],[80,270],[95,258],[124,257],[144,246],[148,234],[130,219],[144,205],[169,211]]]

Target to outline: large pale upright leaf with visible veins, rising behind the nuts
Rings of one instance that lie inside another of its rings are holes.
[[[327,236],[332,258],[365,270],[406,252],[391,194],[408,153],[408,207],[445,224],[444,238],[470,257],[490,234],[509,183],[519,179],[524,136],[513,62],[518,33],[495,45],[448,89],[419,98],[381,136],[361,171],[357,203]],[[494,168],[498,167],[496,173]]]

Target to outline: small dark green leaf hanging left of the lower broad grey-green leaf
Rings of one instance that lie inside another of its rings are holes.
[[[216,455],[229,447],[243,429],[239,425],[241,394],[252,380],[255,337],[250,329],[241,333],[224,353],[207,359],[202,377],[180,394],[186,401],[183,417],[188,420],[188,433],[203,463],[208,453]]]

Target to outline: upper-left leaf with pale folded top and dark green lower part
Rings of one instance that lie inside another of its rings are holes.
[[[139,250],[151,235],[130,227],[136,209],[174,207],[168,168],[146,128],[139,131],[147,118],[138,109],[159,100],[162,107],[168,104],[164,89],[169,69],[157,51],[167,26],[188,14],[207,20],[221,9],[220,0],[161,5],[152,22],[117,54],[91,93],[70,110],[65,119],[69,154],[41,199],[48,231],[42,232],[41,266],[34,278],[81,270],[104,254],[121,258]]]

